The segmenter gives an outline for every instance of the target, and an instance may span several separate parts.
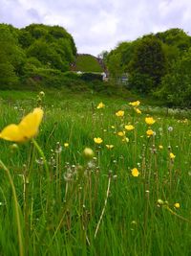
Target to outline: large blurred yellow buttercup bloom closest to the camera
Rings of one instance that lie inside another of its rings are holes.
[[[11,124],[0,132],[0,138],[13,142],[32,139],[37,133],[43,117],[41,108],[34,108],[18,125]]]

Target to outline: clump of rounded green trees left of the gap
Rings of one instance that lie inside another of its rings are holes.
[[[76,57],[74,38],[64,28],[0,24],[0,88],[62,83]],[[65,73],[64,73],[65,74]]]

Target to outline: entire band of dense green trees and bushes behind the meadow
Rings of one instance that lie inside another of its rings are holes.
[[[96,87],[92,83],[101,82],[94,73],[105,71],[116,86],[125,84],[166,105],[191,107],[190,63],[191,36],[178,28],[120,42],[95,58],[77,55],[73,36],[62,27],[31,24],[16,29],[0,24],[0,89],[63,85],[92,89]],[[77,76],[71,71],[93,74]],[[102,82],[97,90],[100,86],[107,87]]]

